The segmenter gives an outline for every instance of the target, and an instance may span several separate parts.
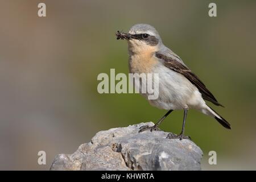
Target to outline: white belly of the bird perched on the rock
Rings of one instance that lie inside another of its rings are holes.
[[[205,104],[199,90],[180,73],[171,71],[162,64],[154,68],[154,73],[159,74],[158,98],[148,100],[152,106],[160,109],[177,110],[195,108],[199,109]],[[142,94],[147,96],[147,94]],[[148,97],[145,97],[148,99]]]

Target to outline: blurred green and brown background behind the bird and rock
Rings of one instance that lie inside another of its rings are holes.
[[[38,3],[47,6],[39,18]],[[208,16],[210,2],[217,17]],[[256,169],[255,1],[0,1],[0,169],[49,169],[100,130],[156,122],[164,110],[139,94],[99,94],[97,75],[128,73],[117,30],[156,27],[164,44],[204,81],[232,125],[189,110],[186,134],[203,169]],[[211,105],[212,106],[212,105]],[[183,111],[161,125],[179,133]],[[38,151],[47,164],[38,165]],[[217,152],[217,165],[208,152]]]

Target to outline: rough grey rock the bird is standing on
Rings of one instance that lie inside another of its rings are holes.
[[[203,152],[191,140],[168,139],[139,123],[98,132],[74,154],[59,154],[51,170],[200,170]]]

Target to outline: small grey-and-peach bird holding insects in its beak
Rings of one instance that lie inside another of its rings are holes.
[[[127,40],[129,52],[129,73],[158,73],[159,96],[148,100],[152,106],[168,110],[154,126],[142,126],[146,130],[160,130],[159,125],[174,110],[184,110],[183,125],[179,135],[170,133],[167,138],[191,139],[184,135],[185,121],[189,109],[196,109],[215,118],[226,129],[230,124],[205,101],[222,106],[205,84],[183,63],[170,48],[164,46],[156,29],[149,24],[135,24],[129,32],[117,31],[117,39]],[[224,107],[224,106],[222,106]]]

